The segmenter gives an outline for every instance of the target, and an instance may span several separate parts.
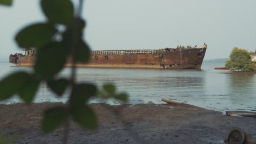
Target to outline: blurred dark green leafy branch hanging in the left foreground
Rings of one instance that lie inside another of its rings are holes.
[[[11,3],[10,0],[0,0],[0,4]],[[15,36],[16,43],[23,49],[36,49],[34,71],[18,71],[4,77],[0,81],[0,100],[18,94],[25,103],[30,104],[41,82],[46,82],[51,91],[59,96],[66,88],[71,88],[66,105],[45,110],[42,123],[45,133],[65,123],[63,143],[67,143],[70,120],[84,128],[96,128],[96,114],[88,104],[91,97],[126,101],[127,94],[117,93],[111,84],[99,89],[90,83],[75,81],[75,65],[89,62],[90,58],[90,47],[82,38],[85,28],[85,21],[81,18],[83,0],[79,0],[77,13],[74,13],[70,0],[41,0],[40,7],[47,20],[28,25]],[[67,63],[72,64],[70,78],[57,78]]]

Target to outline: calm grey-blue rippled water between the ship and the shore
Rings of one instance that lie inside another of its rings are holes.
[[[155,70],[155,69],[107,69],[79,68],[77,81],[91,82],[97,86],[103,83],[115,83],[118,91],[130,94],[130,104],[141,104],[152,101],[162,104],[161,98],[181,101],[212,110],[249,110],[256,111],[256,75],[219,74],[224,63],[204,62],[202,70]],[[5,59],[0,59],[0,79],[17,70],[31,68],[16,67]],[[69,68],[62,71],[61,76],[68,76]],[[62,101],[68,97],[68,90],[63,97],[56,97],[42,83],[34,102]],[[19,103],[13,97],[0,103]],[[102,103],[92,99],[91,103]],[[109,104],[118,101],[108,100]]]

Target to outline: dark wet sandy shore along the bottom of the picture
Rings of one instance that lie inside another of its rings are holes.
[[[15,143],[61,143],[63,127],[43,134],[44,109],[60,103],[0,105],[0,132],[18,136]],[[222,112],[181,105],[91,104],[98,128],[71,123],[69,143],[223,143],[229,130],[241,128],[256,137],[256,118],[225,116]],[[113,110],[121,110],[120,117]]]

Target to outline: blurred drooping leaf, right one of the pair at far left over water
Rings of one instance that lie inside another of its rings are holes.
[[[40,81],[36,80],[34,76],[27,77],[26,82],[19,91],[20,98],[30,104],[36,96],[39,83]]]

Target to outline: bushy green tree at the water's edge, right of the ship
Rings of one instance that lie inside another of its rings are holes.
[[[234,47],[230,53],[229,60],[225,63],[225,67],[238,71],[253,70],[251,53],[245,49]]]

